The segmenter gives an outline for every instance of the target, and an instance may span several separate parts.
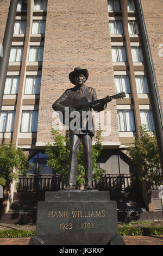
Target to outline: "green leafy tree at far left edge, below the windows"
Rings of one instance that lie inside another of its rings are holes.
[[[12,143],[0,145],[0,185],[5,186],[28,170],[28,156]]]

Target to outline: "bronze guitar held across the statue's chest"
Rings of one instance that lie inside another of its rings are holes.
[[[73,107],[75,109],[75,111],[78,111],[80,113],[80,115],[82,115],[83,111],[90,111],[90,108],[97,105],[98,103],[101,103],[101,102],[107,103],[107,102],[110,102],[112,99],[123,99],[124,97],[126,97],[126,94],[124,92],[122,92],[122,93],[117,93],[112,96],[106,96],[103,99],[95,100],[95,101],[91,101],[91,102],[89,102],[87,100],[87,97],[81,97],[79,99],[64,100],[64,101],[60,102],[60,104],[64,107]],[[64,114],[63,116],[61,116],[60,114],[59,114],[59,118],[60,118],[61,123],[68,125],[68,123],[70,121],[69,115],[67,117],[67,116],[65,116],[66,115],[65,113],[62,113],[62,114]]]

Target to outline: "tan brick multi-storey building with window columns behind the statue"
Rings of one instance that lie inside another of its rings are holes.
[[[108,103],[102,117],[106,120],[109,113],[99,166],[106,174],[130,175],[127,145],[139,136],[141,124],[154,130],[145,62],[149,56],[163,103],[161,0],[141,0],[141,5],[137,0],[1,0],[0,44],[10,2],[15,16],[10,22],[10,56],[5,59],[0,142],[12,139],[23,148],[35,163],[31,173],[52,174],[43,151],[45,143],[52,142],[52,104],[72,87],[68,74],[80,66],[89,70],[86,84],[96,89],[98,99],[126,93],[126,98]],[[139,7],[151,47],[148,54],[142,46]]]

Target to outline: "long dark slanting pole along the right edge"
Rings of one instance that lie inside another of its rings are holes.
[[[154,64],[152,60],[152,53],[149,45],[149,39],[148,39],[147,29],[145,25],[145,18],[143,16],[141,1],[135,0],[134,2],[135,2],[137,23],[139,26],[141,47],[143,51],[143,57],[145,59],[146,74],[147,74],[148,88],[149,88],[149,97],[150,97],[150,102],[152,106],[156,139],[158,142],[161,170],[163,175],[163,115],[162,115],[161,101],[160,101],[159,90],[158,90],[155,71],[154,71]]]

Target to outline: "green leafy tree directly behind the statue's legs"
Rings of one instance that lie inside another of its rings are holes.
[[[52,129],[52,138],[54,143],[46,144],[46,154],[48,154],[47,166],[54,170],[54,173],[60,174],[60,180],[63,184],[67,184],[68,180],[68,160],[70,155],[70,140],[68,136],[62,136],[58,130]],[[92,161],[93,161],[93,179],[100,180],[104,170],[98,167],[97,159],[102,151],[101,131],[96,132],[95,145],[92,145]],[[80,143],[78,153],[78,170],[77,185],[80,188],[85,184],[84,156],[83,145]]]

